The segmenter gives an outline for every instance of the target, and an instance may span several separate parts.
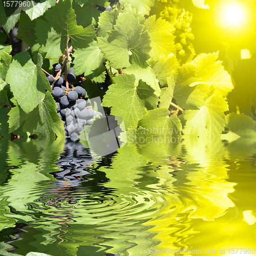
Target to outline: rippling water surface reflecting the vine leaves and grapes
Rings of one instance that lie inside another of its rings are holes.
[[[0,170],[1,255],[256,249],[255,143],[126,144],[97,159],[79,142],[2,139]]]

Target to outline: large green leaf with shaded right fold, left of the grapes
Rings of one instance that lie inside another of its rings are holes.
[[[35,65],[28,52],[21,52],[13,57],[7,72],[6,82],[21,108],[29,113],[45,98],[46,89],[51,90],[49,81],[41,70],[42,56],[37,55]]]

